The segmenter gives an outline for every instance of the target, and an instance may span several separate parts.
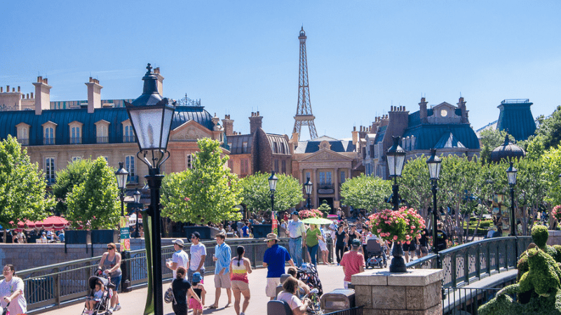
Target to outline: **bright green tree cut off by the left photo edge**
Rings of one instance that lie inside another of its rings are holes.
[[[8,135],[0,142],[0,225],[13,227],[18,221],[46,218],[55,202],[45,198],[45,192],[45,174]]]

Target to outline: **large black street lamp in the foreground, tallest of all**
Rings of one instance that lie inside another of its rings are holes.
[[[137,153],[144,164],[148,166],[148,175],[145,178],[150,188],[150,207],[148,210],[151,216],[151,265],[152,273],[151,290],[148,290],[149,299],[154,302],[154,314],[163,315],[163,291],[162,291],[162,251],[161,251],[161,231],[160,231],[160,188],[163,175],[160,174],[160,167],[165,160],[168,160],[168,140],[170,137],[173,113],[175,112],[175,102],[170,99],[162,98],[156,86],[157,78],[152,73],[150,64],[146,67],[148,71],[142,78],[144,89],[142,95],[135,99],[133,103],[125,102],[130,124],[133,126],[136,141],[140,151]],[[149,244],[147,244],[149,245]],[[147,246],[148,249],[149,246]],[[149,260],[150,262],[150,260]],[[149,277],[150,279],[150,277]],[[147,309],[150,305],[147,303]]]

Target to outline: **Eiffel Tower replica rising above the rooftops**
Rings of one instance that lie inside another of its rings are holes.
[[[313,124],[315,118],[311,113],[310,104],[310,87],[308,85],[308,61],[306,58],[306,32],[304,27],[300,29],[300,69],[298,78],[298,107],[296,109],[296,116],[294,116],[294,130],[298,133],[298,139],[302,134],[302,126],[308,126],[310,130],[310,139],[316,139],[318,132],[316,132],[316,125]]]

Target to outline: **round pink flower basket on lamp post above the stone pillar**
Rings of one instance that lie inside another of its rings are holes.
[[[386,241],[410,244],[425,228],[425,221],[417,214],[417,210],[407,207],[396,211],[386,209],[370,215],[368,219],[370,230]]]

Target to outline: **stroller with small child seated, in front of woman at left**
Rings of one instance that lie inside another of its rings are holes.
[[[111,296],[113,295],[113,288],[115,286],[109,280],[100,276],[90,276],[88,285],[91,293],[86,300],[83,315],[109,315],[109,308]]]

